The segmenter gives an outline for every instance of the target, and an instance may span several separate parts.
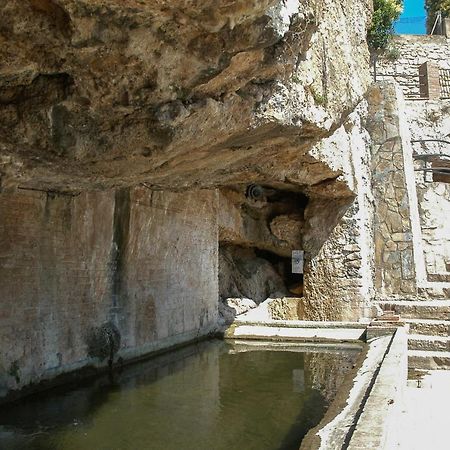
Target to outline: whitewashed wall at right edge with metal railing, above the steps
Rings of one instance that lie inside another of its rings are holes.
[[[441,139],[448,141],[450,101],[406,102],[407,122],[412,140]],[[450,293],[450,184],[435,181],[426,169],[446,166],[450,161],[450,145],[445,142],[414,142],[413,151],[417,192],[416,230],[418,265],[422,270],[419,285],[422,294],[449,298]],[[422,158],[431,155],[441,157]],[[446,156],[447,155],[447,156]],[[434,162],[433,162],[434,161]],[[425,169],[425,170],[421,170]],[[420,270],[419,269],[419,270]]]

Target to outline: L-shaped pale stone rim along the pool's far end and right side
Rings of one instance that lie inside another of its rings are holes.
[[[350,383],[342,386],[300,450],[385,449],[407,382],[407,329],[353,322],[235,322],[225,339],[297,343],[367,342],[367,354]]]

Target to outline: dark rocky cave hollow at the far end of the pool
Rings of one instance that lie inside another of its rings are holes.
[[[273,186],[251,184],[220,190],[222,304],[242,299],[256,307],[268,299],[303,297],[303,270],[294,269],[293,257],[303,255],[308,200],[299,190]]]

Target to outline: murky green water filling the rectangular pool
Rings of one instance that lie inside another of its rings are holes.
[[[298,449],[359,352],[203,342],[1,407],[0,448]]]

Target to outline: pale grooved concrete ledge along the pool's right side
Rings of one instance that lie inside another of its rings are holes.
[[[407,328],[372,339],[346,398],[346,392],[338,395],[300,449],[390,450],[386,442],[401,412],[407,375]]]

